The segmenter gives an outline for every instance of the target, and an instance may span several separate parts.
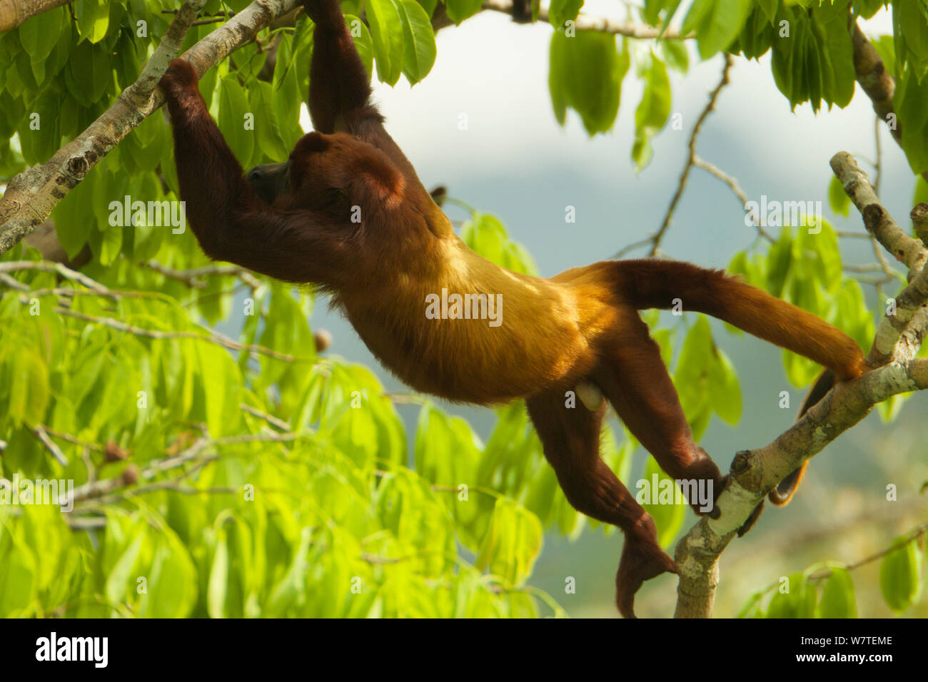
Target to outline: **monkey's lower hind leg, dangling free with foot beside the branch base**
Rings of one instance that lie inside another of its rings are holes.
[[[533,395],[526,404],[567,500],[577,511],[625,533],[615,573],[615,603],[625,618],[634,618],[635,593],[641,584],[661,573],[677,573],[677,564],[658,544],[651,516],[599,457],[605,403],[595,412],[582,404],[565,407],[564,393],[554,390]]]

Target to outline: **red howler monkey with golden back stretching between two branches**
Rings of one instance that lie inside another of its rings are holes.
[[[369,104],[369,76],[338,1],[304,6],[316,24],[316,132],[297,141],[289,161],[246,176],[203,104],[193,67],[174,59],[161,81],[180,196],[200,246],[216,260],[328,291],[371,352],[421,392],[481,405],[525,398],[567,499],[625,533],[616,603],[633,616],[642,582],[677,566],[658,545],[651,516],[599,458],[601,396],[671,478],[711,483],[714,497],[725,483],[693,441],[638,310],[679,299],[842,380],[861,374],[860,349],[815,315],[717,270],[632,260],[544,279],[470,251]],[[430,319],[426,296],[442,290],[502,294],[502,324]],[[588,405],[565,407],[565,392],[578,386]]]

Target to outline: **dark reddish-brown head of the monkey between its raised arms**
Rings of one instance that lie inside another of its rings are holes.
[[[380,149],[344,133],[303,135],[287,161],[255,166],[248,181],[280,211],[324,212],[335,222],[399,208],[406,188],[403,174]]]

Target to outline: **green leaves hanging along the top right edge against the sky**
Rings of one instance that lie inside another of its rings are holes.
[[[645,0],[640,17],[665,31],[680,0]],[[557,29],[550,46],[548,86],[561,125],[574,109],[589,135],[612,129],[622,82],[632,60],[644,85],[635,116],[632,159],[638,170],[651,160],[650,138],[670,113],[671,88],[664,62],[688,68],[682,41],[623,39],[599,32],[565,32],[572,28],[581,0],[558,0],[548,18]],[[883,6],[893,11],[893,35],[872,39],[886,71],[896,79],[893,97],[902,147],[916,174],[928,170],[928,0],[695,0],[681,31],[696,39],[701,58],[723,51],[760,58],[772,52],[771,69],[780,92],[793,109],[808,102],[844,108],[855,91],[855,69],[848,18],[870,19]],[[569,37],[568,37],[569,36]],[[898,58],[896,58],[898,55]]]

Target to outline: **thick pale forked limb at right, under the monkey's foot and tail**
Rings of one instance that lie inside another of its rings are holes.
[[[719,555],[783,478],[866,417],[873,405],[897,393],[928,389],[928,359],[915,359],[928,328],[924,307],[928,302],[928,254],[919,240],[896,225],[850,154],[835,154],[831,168],[863,215],[870,234],[909,266],[909,285],[896,297],[895,308],[887,310],[877,329],[867,358],[876,369],[860,379],[837,384],[773,443],[735,456],[728,485],[716,500],[721,516],[715,520],[703,517],[677,544],[677,618],[712,614]]]

